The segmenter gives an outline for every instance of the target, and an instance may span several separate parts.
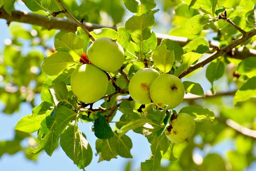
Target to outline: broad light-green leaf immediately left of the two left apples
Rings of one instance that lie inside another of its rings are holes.
[[[44,59],[42,68],[47,75],[57,75],[74,63],[72,56],[68,52],[56,52]]]

